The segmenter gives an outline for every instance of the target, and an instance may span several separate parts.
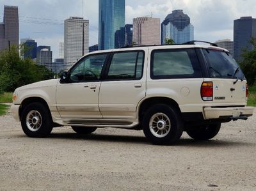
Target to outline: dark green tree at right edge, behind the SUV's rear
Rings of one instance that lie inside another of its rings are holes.
[[[243,50],[242,61],[239,63],[249,85],[255,84],[256,81],[256,38],[252,38],[250,43],[253,50]]]

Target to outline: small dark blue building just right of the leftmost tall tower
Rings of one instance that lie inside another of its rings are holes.
[[[20,39],[20,43],[24,44],[24,55],[23,58],[31,58],[36,59],[36,49],[37,49],[37,43],[33,39],[29,38],[22,38]]]

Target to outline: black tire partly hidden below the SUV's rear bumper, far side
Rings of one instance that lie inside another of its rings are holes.
[[[220,131],[221,123],[197,126],[187,130],[189,137],[195,140],[209,140],[215,137]]]

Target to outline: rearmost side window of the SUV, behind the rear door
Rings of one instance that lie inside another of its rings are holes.
[[[152,79],[202,77],[194,49],[154,50],[151,54]]]

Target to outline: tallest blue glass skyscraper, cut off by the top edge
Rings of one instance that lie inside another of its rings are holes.
[[[99,50],[124,46],[125,0],[99,0]]]

